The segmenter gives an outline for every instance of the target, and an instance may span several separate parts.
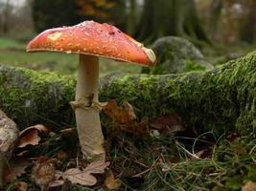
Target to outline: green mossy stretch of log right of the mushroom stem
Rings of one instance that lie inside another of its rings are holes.
[[[203,131],[255,134],[255,59],[250,53],[207,73],[108,76],[102,98],[128,100],[139,117],[175,112]]]

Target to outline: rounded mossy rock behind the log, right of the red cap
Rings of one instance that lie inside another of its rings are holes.
[[[202,53],[184,38],[162,37],[157,39],[151,48],[156,54],[158,64],[153,68],[143,68],[142,73],[179,74],[214,69],[204,61]]]

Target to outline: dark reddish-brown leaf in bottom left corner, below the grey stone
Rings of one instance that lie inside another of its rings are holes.
[[[10,183],[13,180],[15,180],[17,177],[26,173],[25,169],[30,165],[31,165],[31,163],[28,161],[15,162],[14,164],[12,164],[10,166],[10,168],[5,170],[4,182]]]

